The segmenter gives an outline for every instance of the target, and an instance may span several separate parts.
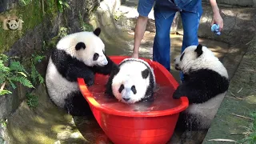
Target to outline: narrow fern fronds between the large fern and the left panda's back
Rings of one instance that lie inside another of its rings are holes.
[[[46,58],[46,56],[41,56],[41,55],[34,55],[32,54],[32,57],[30,58],[30,62],[31,62],[31,74],[30,74],[30,78],[32,79],[32,83],[34,86],[38,85],[39,83],[43,83],[44,79],[42,78],[42,75],[39,74],[38,70],[36,69],[36,65],[42,61],[43,58]],[[38,79],[38,81],[37,81]]]

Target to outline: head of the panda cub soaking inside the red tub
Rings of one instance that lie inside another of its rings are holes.
[[[133,67],[134,71],[131,71],[131,67]],[[142,70],[143,68],[145,70]],[[149,85],[150,70],[142,65],[137,67],[136,63],[134,63],[130,66],[121,67],[118,74],[113,78],[112,91],[119,101],[134,103],[145,97],[147,86]]]

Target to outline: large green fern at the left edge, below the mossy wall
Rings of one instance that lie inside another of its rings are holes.
[[[8,62],[10,60],[10,62]],[[10,63],[10,64],[8,64]],[[16,88],[14,82],[19,82],[23,86],[34,88],[29,79],[27,79],[27,72],[18,61],[8,58],[5,54],[0,54],[0,95],[12,94],[10,90],[5,89],[5,86],[10,84],[13,89]]]

